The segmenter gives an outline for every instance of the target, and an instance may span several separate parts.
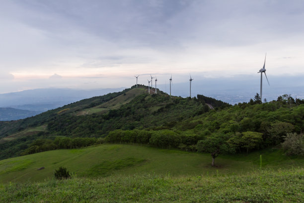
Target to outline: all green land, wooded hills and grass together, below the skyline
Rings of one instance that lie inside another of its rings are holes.
[[[303,202],[304,100],[157,92],[0,122],[0,202]]]

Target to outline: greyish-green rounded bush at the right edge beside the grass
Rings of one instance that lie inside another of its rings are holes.
[[[287,155],[304,155],[303,135],[297,133],[287,133],[285,141],[282,143]]]

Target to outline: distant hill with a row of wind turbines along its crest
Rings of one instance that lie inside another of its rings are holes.
[[[0,158],[20,154],[36,139],[105,137],[115,129],[153,128],[160,123],[172,125],[191,117],[193,111],[209,109],[203,102],[170,98],[159,90],[157,92],[157,95],[148,95],[148,87],[132,87],[73,102],[26,119],[0,122],[0,150],[6,150],[1,151]],[[171,108],[179,102],[178,108]],[[157,122],[149,124],[152,117]]]

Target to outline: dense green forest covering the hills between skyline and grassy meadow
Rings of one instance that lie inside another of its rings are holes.
[[[146,88],[140,86],[139,90]],[[303,154],[303,100],[283,95],[262,103],[257,94],[248,103],[230,105],[203,95],[170,97],[161,91],[135,95],[134,89],[71,103],[31,118],[0,122],[0,159],[105,142],[203,151],[213,158],[270,146],[283,147],[287,154]],[[124,98],[131,90],[134,97],[128,101]],[[113,102],[117,98],[128,102],[117,106],[118,102]],[[117,107],[79,114],[106,103]],[[20,134],[42,125],[44,130]]]

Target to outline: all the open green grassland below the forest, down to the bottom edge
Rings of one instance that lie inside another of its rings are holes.
[[[0,161],[0,202],[302,202],[303,158],[261,153],[262,168],[258,152],[216,168],[209,154],[137,145],[36,153]],[[73,178],[54,180],[59,166]]]

